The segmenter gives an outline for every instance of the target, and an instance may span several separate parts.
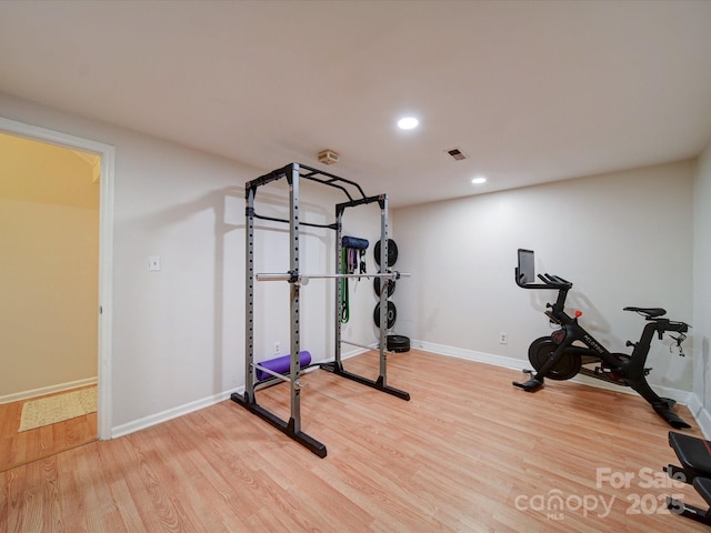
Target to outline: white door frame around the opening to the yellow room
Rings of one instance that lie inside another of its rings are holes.
[[[0,117],[0,132],[101,157],[99,191],[99,345],[97,430],[111,439],[111,339],[113,331],[113,172],[116,148]]]

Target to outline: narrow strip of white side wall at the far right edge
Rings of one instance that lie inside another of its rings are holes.
[[[698,418],[711,434],[711,145],[701,154],[694,182],[693,333],[695,340],[693,392]]]

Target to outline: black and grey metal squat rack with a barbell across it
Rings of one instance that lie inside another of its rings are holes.
[[[289,219],[278,219],[273,217],[263,217],[254,210],[254,199],[257,190],[274,181],[286,179],[289,184]],[[299,221],[299,182],[300,180],[310,180],[334,189],[340,190],[347,201],[336,204],[336,222],[331,224],[316,224]],[[381,278],[383,290],[380,291],[380,374],[377,380],[370,380],[361,375],[347,371],[341,360],[341,321],[339,303],[341,301],[341,283],[337,283],[334,304],[334,324],[336,324],[336,346],[334,361],[320,364],[321,369],[333,372],[349,380],[356,381],[367,386],[371,386],[379,391],[392,394],[402,400],[410,400],[408,392],[394,389],[388,385],[387,378],[387,283],[394,282],[400,276],[409,276],[410,274],[400,272],[387,272],[388,258],[388,195],[379,194],[375,197],[367,197],[361,187],[350,180],[339,178],[337,175],[317,170],[300,163],[290,163],[281,169],[277,169],[246,184],[246,217],[247,217],[247,239],[246,239],[246,358],[244,358],[244,394],[233,393],[231,399],[244,406],[251,413],[267,421],[282,433],[287,434],[294,441],[299,442],[311,452],[320,457],[327,455],[326,445],[301,431],[301,389],[302,383],[301,365],[300,365],[300,330],[299,330],[299,293],[302,285],[309,282],[309,279],[340,279],[340,278]],[[348,208],[365,205],[377,202],[380,207],[380,270],[377,274],[342,274],[342,217]],[[254,220],[269,220],[274,222],[283,222],[289,224],[290,239],[290,270],[286,273],[256,273],[254,272]],[[300,225],[309,225],[316,228],[326,228],[336,231],[336,264],[337,273],[327,274],[302,274],[299,269],[299,228]],[[264,369],[254,362],[254,281],[287,281],[290,284],[290,371],[289,375],[276,374],[269,369]],[[352,344],[352,343],[350,343]],[[358,345],[358,344],[357,344]],[[370,346],[363,346],[370,349]],[[261,406],[256,399],[256,391],[260,388],[260,383],[256,380],[256,370],[267,371],[272,374],[273,379],[279,379],[290,384],[291,392],[291,414],[289,421],[284,421],[274,413]]]

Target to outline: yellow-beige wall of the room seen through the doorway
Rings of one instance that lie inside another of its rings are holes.
[[[96,379],[98,268],[90,159],[0,134],[0,401]]]

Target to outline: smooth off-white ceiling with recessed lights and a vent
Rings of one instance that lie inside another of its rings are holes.
[[[711,1],[6,0],[0,49],[0,92],[393,207],[711,142]]]

